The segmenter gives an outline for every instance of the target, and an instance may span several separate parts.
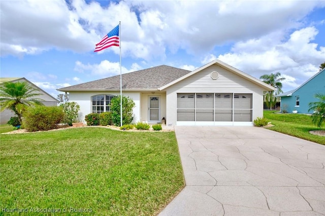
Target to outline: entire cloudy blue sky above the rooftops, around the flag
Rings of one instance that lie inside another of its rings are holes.
[[[216,58],[283,91],[325,62],[325,1],[0,1],[1,77],[56,89],[119,74],[119,48],[94,45],[121,21],[122,73],[193,70]]]

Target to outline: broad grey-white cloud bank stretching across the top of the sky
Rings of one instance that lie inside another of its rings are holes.
[[[179,49],[201,55],[225,42],[297,28],[324,6],[324,1],[120,1],[107,7],[84,0],[2,1],[1,55],[90,52],[118,21],[123,56],[165,59]]]

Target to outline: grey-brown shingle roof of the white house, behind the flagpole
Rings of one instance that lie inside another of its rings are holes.
[[[167,83],[190,73],[189,70],[175,68],[167,65],[156,66],[148,69],[143,69],[131,73],[122,74],[122,89],[158,89]],[[104,79],[85,82],[70,87],[58,89],[58,91],[73,91],[73,90],[101,90],[101,89],[119,89],[120,75],[111,76]]]

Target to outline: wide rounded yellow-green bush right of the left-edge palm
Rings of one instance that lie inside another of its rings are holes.
[[[24,128],[27,131],[48,131],[55,129],[56,124],[64,118],[62,107],[36,106],[30,107],[24,114]]]

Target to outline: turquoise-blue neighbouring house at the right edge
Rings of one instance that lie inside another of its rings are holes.
[[[317,93],[325,94],[325,68],[316,73],[313,77],[304,82],[300,87],[289,92],[285,92],[275,97],[281,98],[281,111],[288,113],[297,110],[298,113],[308,112],[309,103],[318,101],[314,95]]]

